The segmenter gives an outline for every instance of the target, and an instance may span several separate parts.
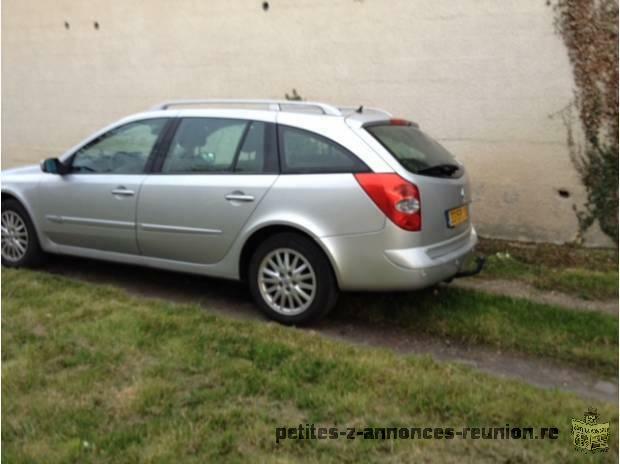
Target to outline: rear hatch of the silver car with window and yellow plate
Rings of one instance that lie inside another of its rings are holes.
[[[360,135],[415,185],[419,194],[421,227],[412,246],[450,239],[468,239],[471,192],[465,167],[438,142],[409,121],[390,119],[363,124]]]

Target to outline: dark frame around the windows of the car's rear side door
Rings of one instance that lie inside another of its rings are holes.
[[[148,172],[149,174],[152,175],[159,175],[159,176],[213,176],[213,175],[220,175],[220,176],[230,176],[230,175],[241,175],[241,176],[265,176],[265,175],[269,175],[269,176],[273,176],[273,175],[278,175],[280,174],[280,169],[279,169],[279,164],[280,164],[280,159],[279,159],[279,154],[278,154],[278,144],[277,144],[277,135],[275,134],[276,132],[276,124],[270,121],[263,121],[260,119],[245,119],[245,118],[224,118],[224,117],[220,117],[220,116],[175,116],[171,119],[174,119],[174,123],[173,125],[171,125],[170,127],[170,133],[167,134],[167,137],[165,140],[162,140],[162,144],[160,147],[160,150],[158,150],[158,153],[154,159],[153,165],[151,167],[151,170]],[[235,158],[233,160],[233,164],[232,164],[232,170],[230,171],[187,171],[187,172],[163,172],[163,167],[164,167],[164,163],[166,161],[166,157],[168,156],[169,152],[170,152],[170,146],[172,145],[172,141],[174,140],[175,135],[177,134],[178,130],[179,130],[179,126],[181,125],[181,123],[183,122],[183,120],[185,119],[228,119],[228,120],[233,120],[233,121],[242,121],[246,123],[246,127],[244,128],[244,132],[242,135],[242,138],[240,139],[240,143],[239,146],[237,147],[237,151],[235,152]],[[277,170],[275,171],[266,171],[266,172],[250,172],[250,171],[237,171],[236,170],[236,164],[237,164],[237,160],[238,160],[238,156],[239,153],[241,152],[241,148],[243,148],[243,144],[245,143],[245,138],[247,136],[247,133],[249,132],[249,128],[252,126],[252,124],[254,123],[263,123],[265,124],[265,128],[266,128],[266,137],[265,137],[265,156],[272,156],[275,157],[275,161],[276,164],[278,165],[278,167],[276,168]],[[271,129],[271,130],[269,130]],[[271,140],[273,139],[273,140]],[[272,146],[273,145],[273,146]],[[272,149],[273,152],[271,155],[269,154],[269,148]]]

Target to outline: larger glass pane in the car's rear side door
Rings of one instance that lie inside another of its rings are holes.
[[[232,172],[248,124],[239,119],[183,119],[170,144],[162,172]]]

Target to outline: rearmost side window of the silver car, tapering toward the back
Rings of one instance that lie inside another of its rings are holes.
[[[319,134],[279,126],[280,156],[285,173],[367,172],[353,153]]]

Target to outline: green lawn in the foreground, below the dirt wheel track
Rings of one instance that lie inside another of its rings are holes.
[[[609,462],[617,407],[308,331],[2,272],[2,458],[20,462]],[[612,422],[586,456],[569,420]],[[557,426],[557,441],[285,441],[275,427]]]

